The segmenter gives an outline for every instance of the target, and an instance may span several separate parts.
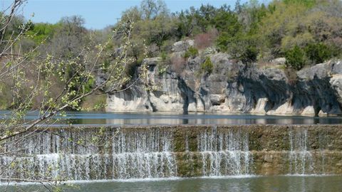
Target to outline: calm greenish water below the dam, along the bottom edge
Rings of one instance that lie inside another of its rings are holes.
[[[45,191],[41,186],[1,186],[7,191]],[[255,176],[232,178],[180,178],[68,183],[65,191],[342,191],[342,176]]]

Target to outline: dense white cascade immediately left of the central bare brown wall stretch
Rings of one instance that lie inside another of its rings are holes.
[[[172,132],[119,134],[113,138],[115,178],[160,178],[177,176],[172,151]]]

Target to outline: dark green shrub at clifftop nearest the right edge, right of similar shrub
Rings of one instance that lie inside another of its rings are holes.
[[[312,63],[323,63],[324,60],[331,58],[331,49],[323,43],[309,44],[305,48],[306,56]]]

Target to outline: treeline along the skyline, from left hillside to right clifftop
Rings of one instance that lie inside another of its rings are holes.
[[[42,50],[73,58],[87,43],[101,42],[111,30],[127,21],[134,22],[130,54],[139,61],[147,56],[170,52],[172,44],[194,39],[197,49],[214,46],[243,62],[286,57],[297,70],[304,65],[338,57],[342,49],[342,3],[338,0],[274,0],[259,4],[239,1],[232,8],[209,4],[170,13],[164,1],[145,0],[123,12],[121,21],[101,31],[87,30],[80,16],[62,18],[56,24],[31,23],[21,51],[39,43]],[[7,36],[19,30],[24,18],[15,18]],[[111,48],[119,48],[120,37]]]

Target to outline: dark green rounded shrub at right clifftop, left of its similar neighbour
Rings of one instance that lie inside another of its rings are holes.
[[[291,50],[287,50],[285,53],[286,66],[300,70],[306,64],[306,56],[304,50],[299,46],[294,46]]]

